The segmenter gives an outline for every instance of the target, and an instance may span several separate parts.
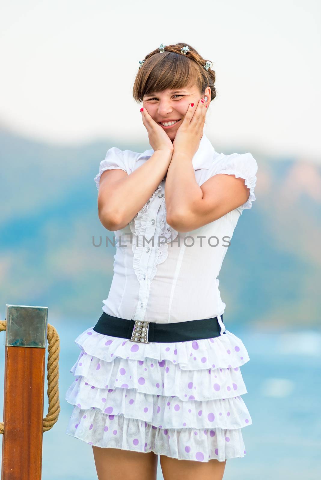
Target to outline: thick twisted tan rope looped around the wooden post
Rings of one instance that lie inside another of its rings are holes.
[[[0,332],[6,330],[6,320],[0,320]],[[60,412],[59,404],[59,335],[54,326],[47,325],[47,339],[48,339],[48,362],[47,362],[47,380],[48,390],[47,395],[49,399],[48,413],[43,419],[43,432],[48,432],[50,428],[58,420]],[[0,422],[0,435],[4,432],[4,422]]]

